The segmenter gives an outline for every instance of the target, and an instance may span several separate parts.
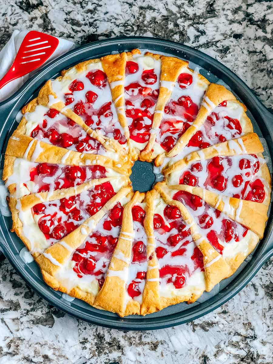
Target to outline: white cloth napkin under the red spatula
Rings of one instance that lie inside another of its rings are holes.
[[[9,39],[8,43],[1,50],[1,52],[0,52],[0,79],[3,78],[3,76],[8,72],[9,68],[11,67],[12,62],[14,61],[15,56],[21,46],[21,43],[22,43],[25,35],[27,35],[28,32],[29,32],[28,30],[23,30],[23,31],[15,30],[12,33],[11,39]],[[56,37],[56,38],[58,38],[58,37]],[[48,58],[47,62],[42,64],[41,67],[43,67],[46,63],[50,62],[52,59],[57,58],[60,55],[68,52],[69,50],[71,50],[74,47],[73,42],[71,42],[69,40],[61,39],[61,38],[58,38],[58,39],[59,39],[58,47],[56,48],[54,53],[50,56],[50,58]],[[31,73],[29,73],[23,77],[17,78],[16,80],[9,82],[3,88],[1,88],[0,102],[7,99],[12,94],[14,94],[14,92],[17,91],[29,77],[34,75],[35,72],[37,72],[37,70],[39,70],[39,68],[37,68],[36,70],[32,71]]]

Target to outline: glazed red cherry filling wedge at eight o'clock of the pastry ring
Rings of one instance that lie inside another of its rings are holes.
[[[32,207],[32,214],[39,215],[39,229],[53,244],[97,213],[114,195],[111,183],[105,182],[75,196],[37,203]]]

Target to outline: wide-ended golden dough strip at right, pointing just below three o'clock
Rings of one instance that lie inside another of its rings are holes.
[[[268,206],[264,203],[241,200],[239,198],[222,196],[217,193],[187,185],[170,186],[170,189],[187,191],[201,197],[215,209],[222,211],[229,218],[246,226],[257,234],[260,239],[264,235],[265,224],[268,219]]]

